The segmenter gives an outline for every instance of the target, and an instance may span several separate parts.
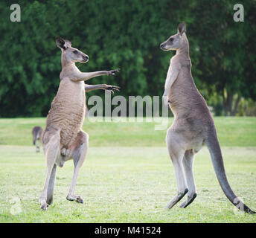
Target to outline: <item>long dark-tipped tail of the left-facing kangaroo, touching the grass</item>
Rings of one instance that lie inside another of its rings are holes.
[[[208,133],[207,138],[205,139],[205,144],[207,145],[209,152],[211,154],[211,161],[214,165],[214,170],[217,175],[217,179],[220,183],[225,196],[228,200],[235,205],[239,210],[242,210],[246,213],[255,213],[250,208],[248,208],[237,196],[234,194],[230,185],[228,184],[227,176],[225,175],[225,168],[223,164],[223,155],[220,150],[220,144],[217,138],[216,129],[211,129],[211,132]]]

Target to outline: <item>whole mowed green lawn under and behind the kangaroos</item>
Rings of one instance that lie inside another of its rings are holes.
[[[231,187],[256,210],[256,118],[214,120]],[[226,199],[206,148],[196,155],[193,204],[164,210],[176,195],[166,130],[155,131],[155,123],[87,119],[90,147],[76,187],[84,204],[65,199],[74,169],[67,161],[57,169],[54,205],[41,211],[45,158],[32,147],[37,125],[44,127],[45,118],[0,119],[0,222],[256,222]]]

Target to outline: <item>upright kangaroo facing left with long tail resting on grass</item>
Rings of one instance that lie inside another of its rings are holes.
[[[211,154],[211,161],[225,196],[240,210],[255,213],[237,198],[228,184],[214,120],[205,99],[193,82],[185,32],[186,25],[182,22],[178,26],[178,32],[160,45],[162,51],[176,51],[176,55],[170,59],[163,100],[166,106],[170,106],[174,115],[173,124],[167,129],[166,143],[175,170],[178,193],[166,208],[173,208],[186,193],[188,193],[187,199],[180,208],[188,207],[196,198],[193,161],[196,152],[199,152],[205,144]],[[185,170],[187,183],[182,167]]]

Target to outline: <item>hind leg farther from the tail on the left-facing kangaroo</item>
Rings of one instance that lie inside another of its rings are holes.
[[[188,188],[185,182],[185,176],[182,170],[182,158],[185,154],[184,149],[180,147],[180,145],[176,142],[175,134],[173,134],[170,130],[167,132],[167,149],[170,155],[170,158],[173,162],[173,167],[176,176],[176,184],[177,184],[177,195],[168,203],[166,206],[167,209],[173,208],[177,202],[179,202],[186,193],[188,193]]]

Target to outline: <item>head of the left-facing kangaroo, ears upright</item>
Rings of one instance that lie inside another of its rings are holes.
[[[160,48],[162,51],[176,51],[182,48],[187,47],[188,39],[186,36],[186,25],[185,22],[182,22],[178,26],[178,32],[170,36],[165,42],[162,42]]]

